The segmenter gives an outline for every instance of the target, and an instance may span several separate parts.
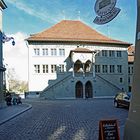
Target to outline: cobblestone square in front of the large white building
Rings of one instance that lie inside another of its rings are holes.
[[[32,109],[0,125],[0,140],[98,140],[101,119],[117,119],[124,127],[128,116],[112,99],[27,103]]]

